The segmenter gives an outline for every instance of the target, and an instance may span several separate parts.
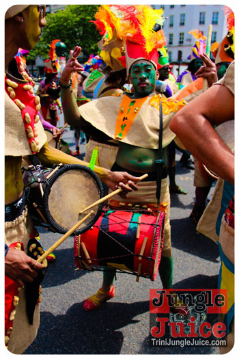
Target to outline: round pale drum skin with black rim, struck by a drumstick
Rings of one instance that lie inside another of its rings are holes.
[[[103,195],[102,183],[90,168],[83,165],[64,165],[46,184],[43,197],[46,217],[57,232],[66,233],[89,211],[94,211],[74,232],[75,235],[80,235],[98,220],[103,204],[81,215],[79,212]]]

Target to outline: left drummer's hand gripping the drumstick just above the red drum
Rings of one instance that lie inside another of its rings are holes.
[[[113,191],[119,187],[123,189],[119,196],[126,198],[126,194],[132,190],[137,191],[138,186],[134,182],[138,182],[139,177],[131,176],[127,172],[109,172],[105,178],[104,183]]]

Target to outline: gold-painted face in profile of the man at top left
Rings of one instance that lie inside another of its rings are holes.
[[[30,5],[25,18],[25,34],[29,49],[33,49],[38,40],[40,40],[41,28],[46,25],[42,10],[38,5]]]

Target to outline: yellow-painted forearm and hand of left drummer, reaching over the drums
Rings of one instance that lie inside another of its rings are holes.
[[[38,153],[38,158],[40,159],[42,165],[46,165],[48,167],[51,167],[52,164],[59,163],[68,165],[78,164],[89,167],[89,163],[81,161],[81,159],[77,159],[76,157],[67,155],[64,152],[49,146],[47,142],[40,149],[40,152]],[[126,193],[128,191],[132,191],[132,189],[137,189],[137,185],[135,185],[135,183],[133,183],[132,181],[137,182],[139,178],[131,176],[127,172],[112,172],[110,170],[107,170],[106,168],[101,168],[96,165],[94,166],[94,172],[96,172],[96,174],[100,178],[100,181],[104,182],[113,191],[118,187],[122,187],[122,189],[124,190],[120,194],[122,198],[126,197]]]

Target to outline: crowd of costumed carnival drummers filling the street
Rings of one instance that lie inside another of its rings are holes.
[[[214,45],[214,60],[206,54],[206,38],[197,32],[188,69],[176,79],[167,57],[163,10],[102,5],[94,21],[98,29],[102,24],[107,29],[98,42],[99,55],[84,66],[78,61],[81,46],[76,45],[57,84],[57,59],[51,52],[46,77],[34,94],[33,79],[16,55],[38,42],[46,26],[45,11],[45,5],[14,5],[5,14],[5,345],[23,354],[36,338],[40,301],[29,323],[27,287],[47,265],[29,254],[30,242],[42,245],[26,206],[23,161],[49,168],[91,164],[105,194],[122,189],[109,200],[114,209],[126,211],[140,204],[151,212],[163,211],[158,274],[163,289],[173,289],[170,193],[186,195],[175,183],[175,148],[180,148],[181,163],[188,165],[191,156],[194,163],[191,217],[197,229],[219,245],[219,288],[227,289],[230,303],[225,317],[227,348],[221,352],[229,351],[234,345],[234,147],[224,137],[228,134],[231,140],[234,134],[233,13],[227,9],[228,32]],[[143,21],[145,17],[150,21]],[[152,19],[156,24],[148,29]],[[62,135],[57,107],[74,129],[72,155],[48,144],[46,129],[58,139]],[[84,161],[78,156],[80,139],[87,142]],[[139,181],[143,174],[147,177]],[[206,205],[214,181],[214,195]],[[114,278],[115,268],[105,266],[102,285],[85,300],[85,310],[96,310],[115,296]]]

